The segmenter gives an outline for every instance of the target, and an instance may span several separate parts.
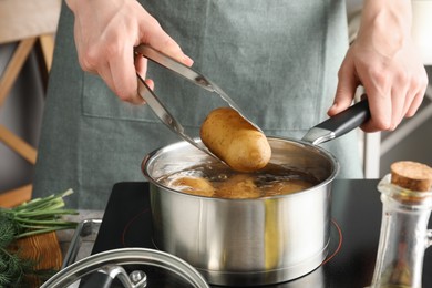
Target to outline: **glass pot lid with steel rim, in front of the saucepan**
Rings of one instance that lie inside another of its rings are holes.
[[[41,288],[63,288],[78,280],[84,288],[112,287],[112,282],[130,288],[209,287],[194,267],[176,256],[147,248],[121,248],[76,261],[55,274]]]

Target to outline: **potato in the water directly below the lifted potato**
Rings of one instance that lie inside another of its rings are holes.
[[[215,196],[230,199],[258,198],[261,192],[248,174],[237,174],[215,187]]]

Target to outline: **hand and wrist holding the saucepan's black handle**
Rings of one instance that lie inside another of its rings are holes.
[[[346,110],[357,86],[368,95],[371,120],[366,132],[394,130],[413,116],[428,85],[428,75],[411,40],[411,1],[364,1],[358,38],[339,70],[330,116]]]

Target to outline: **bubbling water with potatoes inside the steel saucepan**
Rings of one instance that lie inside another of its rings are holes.
[[[319,183],[310,174],[276,164],[269,164],[259,172],[239,173],[217,163],[176,172],[160,178],[158,182],[176,191],[218,198],[285,195]]]

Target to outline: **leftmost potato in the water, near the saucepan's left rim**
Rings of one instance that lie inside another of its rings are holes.
[[[198,196],[210,197],[214,194],[212,184],[203,177],[182,176],[171,181],[168,186]]]

